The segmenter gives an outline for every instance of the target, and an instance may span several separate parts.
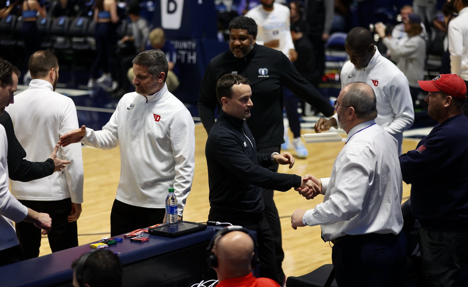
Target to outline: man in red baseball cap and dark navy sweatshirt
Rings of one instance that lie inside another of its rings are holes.
[[[453,74],[418,84],[428,92],[427,113],[439,122],[414,151],[400,156],[403,181],[411,184],[411,209],[421,224],[421,285],[458,286],[468,258],[467,88]]]

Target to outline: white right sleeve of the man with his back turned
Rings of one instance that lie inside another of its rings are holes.
[[[72,129],[78,128],[78,116],[73,100],[68,99],[64,106],[63,118],[60,122],[59,136],[66,134]],[[61,148],[62,159],[69,160],[70,164],[64,169],[66,182],[70,190],[73,203],[83,202],[83,157],[81,144],[72,143]]]

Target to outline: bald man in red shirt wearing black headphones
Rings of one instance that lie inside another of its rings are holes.
[[[218,231],[208,245],[208,266],[216,271],[217,287],[278,287],[270,278],[256,278],[252,268],[257,264],[256,244],[249,230],[229,226]]]

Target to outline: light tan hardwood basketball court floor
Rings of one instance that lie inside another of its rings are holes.
[[[311,132],[302,130],[302,133]],[[344,135],[345,136],[345,135]],[[201,123],[195,127],[195,175],[192,191],[187,198],[183,220],[206,222],[209,211],[208,172],[205,160],[206,132]],[[419,140],[405,139],[403,152],[415,149]],[[336,155],[344,143],[310,143],[307,159],[295,159],[292,169],[280,165],[278,172],[316,177],[329,177]],[[293,151],[290,151],[293,155]],[[110,236],[110,209],[115,199],[120,176],[119,148],[103,151],[83,147],[84,202],[83,212],[78,220],[79,244],[87,244]],[[155,163],[156,164],[156,163]],[[403,201],[409,198],[410,186],[403,183]],[[293,189],[282,193],[275,191],[275,202],[281,219],[285,260],[283,270],[286,276],[300,276],[323,264],[331,263],[331,247],[320,237],[320,226],[306,226],[293,230],[291,215],[297,208],[311,209],[323,201],[319,195],[307,201]],[[157,223],[157,222],[154,222]],[[130,231],[130,230],[129,230]],[[91,248],[90,248],[91,251]],[[42,238],[40,255],[51,253],[47,237]]]

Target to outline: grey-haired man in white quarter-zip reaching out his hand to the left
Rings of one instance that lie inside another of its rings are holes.
[[[102,130],[82,126],[59,144],[81,142],[110,150],[120,145],[120,181],[110,214],[110,235],[117,236],[165,221],[165,200],[174,187],[179,220],[195,167],[195,124],[165,80],[168,61],[161,50],[133,59],[136,91],[125,94]]]

